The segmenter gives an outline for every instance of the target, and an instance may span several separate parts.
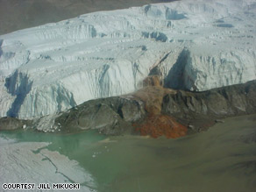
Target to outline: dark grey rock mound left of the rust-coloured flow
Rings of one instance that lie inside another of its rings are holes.
[[[125,97],[92,100],[64,112],[54,125],[64,132],[97,129],[107,135],[119,135],[132,132],[132,123],[145,116],[143,105]]]

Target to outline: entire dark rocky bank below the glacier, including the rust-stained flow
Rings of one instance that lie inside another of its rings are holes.
[[[59,114],[53,129],[176,138],[206,130],[223,117],[256,113],[256,81],[203,92],[164,89],[160,85],[157,76],[150,76],[145,88],[131,95],[82,103]],[[39,120],[4,117],[0,119],[0,130],[14,130],[24,124],[36,127]]]

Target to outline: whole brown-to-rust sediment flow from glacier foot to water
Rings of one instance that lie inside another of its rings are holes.
[[[143,81],[144,88],[134,93],[133,96],[145,103],[146,118],[137,124],[133,124],[140,135],[150,135],[153,138],[166,136],[167,138],[179,138],[187,135],[186,126],[178,123],[174,117],[161,114],[163,96],[175,93],[175,90],[164,89],[157,75],[148,76]]]

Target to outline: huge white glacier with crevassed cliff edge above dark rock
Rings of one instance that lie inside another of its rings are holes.
[[[256,79],[255,0],[99,11],[0,36],[0,117],[54,115],[160,75],[203,91]]]

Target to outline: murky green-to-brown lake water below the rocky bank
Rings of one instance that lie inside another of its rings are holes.
[[[254,135],[254,136],[253,136]],[[180,139],[0,132],[18,142],[49,142],[47,149],[77,160],[97,191],[256,191],[256,115],[232,117],[207,132]],[[254,138],[253,138],[254,137]]]

